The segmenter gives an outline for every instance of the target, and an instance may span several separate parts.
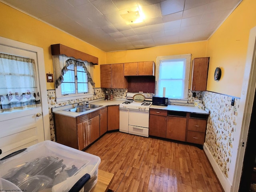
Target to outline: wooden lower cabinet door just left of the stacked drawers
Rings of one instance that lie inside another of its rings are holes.
[[[186,117],[168,116],[166,138],[186,141]]]

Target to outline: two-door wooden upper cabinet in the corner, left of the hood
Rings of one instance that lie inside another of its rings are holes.
[[[102,88],[128,88],[124,77],[124,64],[100,65],[100,86]]]

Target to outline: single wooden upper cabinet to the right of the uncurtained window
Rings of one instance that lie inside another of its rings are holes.
[[[209,59],[209,57],[194,58],[192,61],[190,90],[206,91]]]

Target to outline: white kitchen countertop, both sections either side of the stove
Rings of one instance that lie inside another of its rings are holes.
[[[96,108],[96,109],[90,109],[86,112],[82,113],[77,113],[77,112],[70,112],[70,111],[65,111],[63,109],[65,108],[71,108],[76,106],[75,104],[68,105],[68,106],[62,106],[62,107],[57,107],[57,108],[52,108],[52,112],[55,114],[61,114],[65,116],[70,116],[70,117],[78,117],[80,115],[88,114],[90,112],[93,112],[95,110],[99,110],[100,108],[103,108],[105,106],[112,106],[112,105],[119,105],[122,102],[124,102],[125,99],[114,99],[114,100],[96,100],[96,101],[89,101],[90,104],[97,104],[97,105],[102,105],[102,107]],[[199,114],[209,114],[208,110],[201,110],[199,108],[196,108],[194,106],[181,106],[181,105],[168,105],[168,106],[157,106],[157,105],[151,105],[150,109],[162,109],[162,110],[170,110],[170,111],[182,111],[182,112],[191,112],[191,113],[199,113]]]

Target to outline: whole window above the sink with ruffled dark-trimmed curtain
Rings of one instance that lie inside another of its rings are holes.
[[[53,62],[57,102],[93,96],[93,68],[89,62],[65,55],[54,55]]]

